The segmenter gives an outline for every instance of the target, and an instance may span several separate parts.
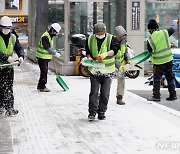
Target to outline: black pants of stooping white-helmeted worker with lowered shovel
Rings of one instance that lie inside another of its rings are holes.
[[[50,62],[50,60],[49,59],[41,59],[41,58],[38,58],[37,60],[38,60],[39,68],[40,68],[40,78],[39,78],[37,88],[44,89],[44,88],[46,88],[48,63]]]

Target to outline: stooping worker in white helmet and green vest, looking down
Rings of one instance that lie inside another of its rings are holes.
[[[57,36],[60,30],[61,26],[58,23],[53,23],[49,30],[42,34],[38,44],[36,57],[40,68],[40,77],[37,89],[40,92],[50,92],[50,89],[46,87],[48,63],[51,61],[53,55],[55,57],[61,56],[57,50],[53,49],[53,37]]]

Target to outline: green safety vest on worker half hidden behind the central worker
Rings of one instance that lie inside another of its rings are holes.
[[[127,44],[124,41],[124,42],[122,42],[122,44],[118,50],[118,53],[115,56],[116,61],[118,63],[120,63],[121,65],[125,65],[124,54],[125,54],[126,50],[127,50]]]

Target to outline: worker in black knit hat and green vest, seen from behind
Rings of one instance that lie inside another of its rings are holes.
[[[160,82],[164,73],[168,82],[169,97],[168,101],[177,99],[175,85],[173,82],[174,74],[172,71],[172,51],[169,37],[177,29],[177,20],[174,20],[171,27],[166,30],[159,30],[156,20],[151,19],[147,25],[151,36],[147,39],[147,49],[151,53],[153,63],[153,96],[148,101],[160,101]]]

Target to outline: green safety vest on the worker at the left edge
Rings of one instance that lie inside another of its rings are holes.
[[[2,38],[2,36],[0,36],[0,52],[12,56],[14,52],[15,43],[16,43],[16,36],[14,34],[11,34],[11,36],[9,37],[8,46],[6,48],[4,39]],[[0,64],[8,64],[8,61],[0,59]]]

